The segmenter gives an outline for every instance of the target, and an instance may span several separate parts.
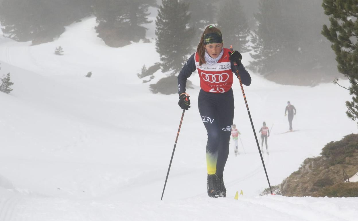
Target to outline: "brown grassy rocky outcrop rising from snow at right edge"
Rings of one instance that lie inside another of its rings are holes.
[[[275,189],[283,196],[358,197],[358,183],[348,182],[357,171],[358,135],[350,134],[326,144],[320,157],[305,159]]]

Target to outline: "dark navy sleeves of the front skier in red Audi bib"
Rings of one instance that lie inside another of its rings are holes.
[[[187,63],[184,64],[182,70],[180,71],[180,73],[178,75],[178,93],[179,93],[179,95],[181,93],[185,93],[187,78],[190,77],[192,75],[192,73],[197,69],[197,64],[195,63],[195,54],[196,53],[194,53],[192,56],[190,56]],[[229,67],[229,68],[231,68],[231,72],[235,73],[235,75],[236,75],[236,71],[234,71],[233,62],[229,62],[228,64],[231,65]],[[240,64],[237,66],[237,69],[239,71],[241,82],[244,85],[249,86],[251,84],[251,77],[250,77],[250,74],[247,72],[246,68],[242,64]]]

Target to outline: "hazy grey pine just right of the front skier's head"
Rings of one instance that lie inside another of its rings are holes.
[[[223,33],[226,47],[233,45],[237,51],[249,51],[247,44],[250,30],[239,0],[225,1],[218,16],[218,28]]]

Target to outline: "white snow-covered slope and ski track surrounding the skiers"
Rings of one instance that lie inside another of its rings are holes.
[[[95,26],[95,18],[83,19],[54,42],[36,46],[0,38],[0,75],[10,72],[14,82],[9,95],[0,93],[1,221],[356,220],[356,198],[259,196],[268,184],[238,81],[240,155],[230,147],[227,198],[207,197],[197,73],[189,78],[192,107],[185,111],[160,201],[182,110],[178,95],[149,92],[165,73],[156,72],[149,83],[136,76],[143,64],[159,62],[155,24],[147,26],[151,43],[122,48],[107,47]],[[60,45],[64,56],[54,54]],[[250,59],[243,54],[244,65]],[[92,77],[84,77],[89,71]],[[250,73],[252,84],[244,88],[255,130],[263,121],[273,125],[270,155],[263,154],[271,185],[319,155],[326,143],[357,133],[345,116],[347,90],[333,83],[283,86]],[[297,109],[297,131],[281,134],[289,126],[287,101]],[[234,200],[241,189],[244,195]]]

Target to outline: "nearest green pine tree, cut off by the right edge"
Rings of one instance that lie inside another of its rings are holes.
[[[338,71],[349,79],[352,101],[346,101],[346,114],[358,117],[358,0],[323,0],[324,13],[329,15],[330,27],[323,25],[322,34],[332,42]],[[337,81],[336,81],[337,82]]]

